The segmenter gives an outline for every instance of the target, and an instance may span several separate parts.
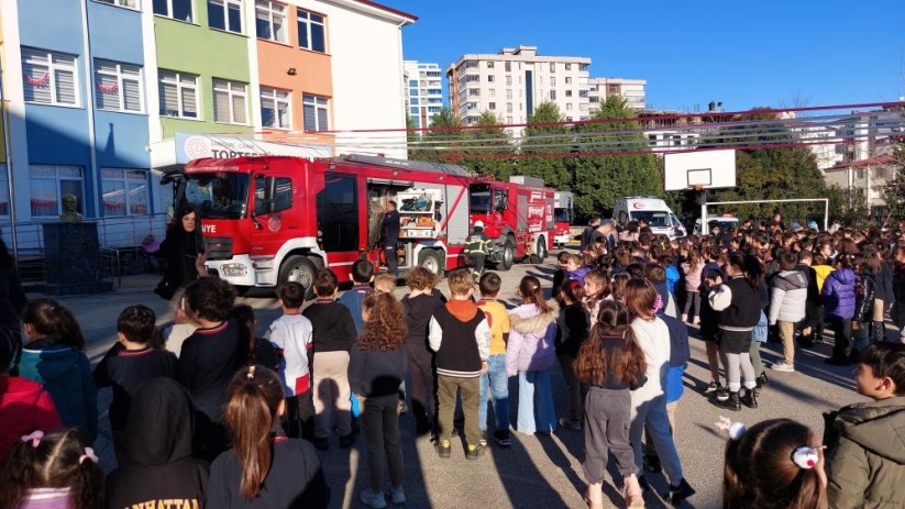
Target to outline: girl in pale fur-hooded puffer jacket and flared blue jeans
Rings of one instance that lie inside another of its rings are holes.
[[[556,428],[550,368],[556,362],[554,342],[560,307],[555,300],[543,300],[540,281],[533,276],[521,278],[518,295],[525,303],[509,311],[506,345],[506,370],[509,376],[519,376],[516,425],[520,433],[549,435]]]

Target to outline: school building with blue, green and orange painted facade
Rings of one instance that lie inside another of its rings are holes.
[[[404,132],[375,148],[354,131],[405,128],[416,20],[369,0],[4,1],[4,239],[14,209],[20,246],[40,248],[65,193],[103,245],[162,235],[162,171],[197,157],[405,157]]]

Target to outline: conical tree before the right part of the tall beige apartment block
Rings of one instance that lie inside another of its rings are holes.
[[[553,189],[572,189],[572,169],[570,157],[549,156],[545,154],[567,154],[573,140],[564,125],[538,125],[562,122],[560,108],[553,102],[542,102],[528,117],[516,161],[516,173],[529,177],[542,178]]]

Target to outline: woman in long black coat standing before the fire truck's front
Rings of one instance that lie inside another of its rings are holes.
[[[177,289],[207,275],[201,218],[195,206],[179,207],[174,223],[167,229],[166,239],[155,254],[166,261],[164,278],[154,290],[164,299],[169,300]]]

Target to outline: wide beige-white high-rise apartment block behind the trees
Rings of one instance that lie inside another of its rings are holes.
[[[525,123],[542,102],[555,103],[566,121],[587,120],[589,66],[591,58],[539,55],[536,46],[462,55],[446,69],[450,106],[464,125],[484,111]]]

